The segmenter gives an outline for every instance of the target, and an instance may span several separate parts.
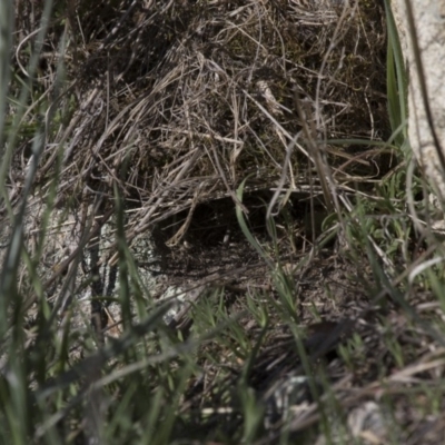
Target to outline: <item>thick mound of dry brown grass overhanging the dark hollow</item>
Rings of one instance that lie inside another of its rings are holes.
[[[100,192],[108,208],[118,185],[136,209],[129,240],[180,210],[189,212],[169,235],[172,247],[198,204],[222,196],[236,200],[236,187],[249,175],[257,188],[275,187],[281,178],[281,187],[298,191],[319,182],[325,175],[310,182],[309,176],[327,164],[337,186],[353,188],[385,170],[372,145],[327,144],[388,136],[379,6],[88,4],[56,13],[37,79],[39,99],[48,100],[59,58],[50,48],[57,48],[65,22],[63,60],[75,80],[52,105],[60,121],[49,131],[38,174],[42,197],[63,145],[56,206],[80,208]],[[29,34],[32,23],[26,19],[32,14],[23,10],[18,17],[23,17],[18,36]],[[19,62],[22,52],[17,56]]]

